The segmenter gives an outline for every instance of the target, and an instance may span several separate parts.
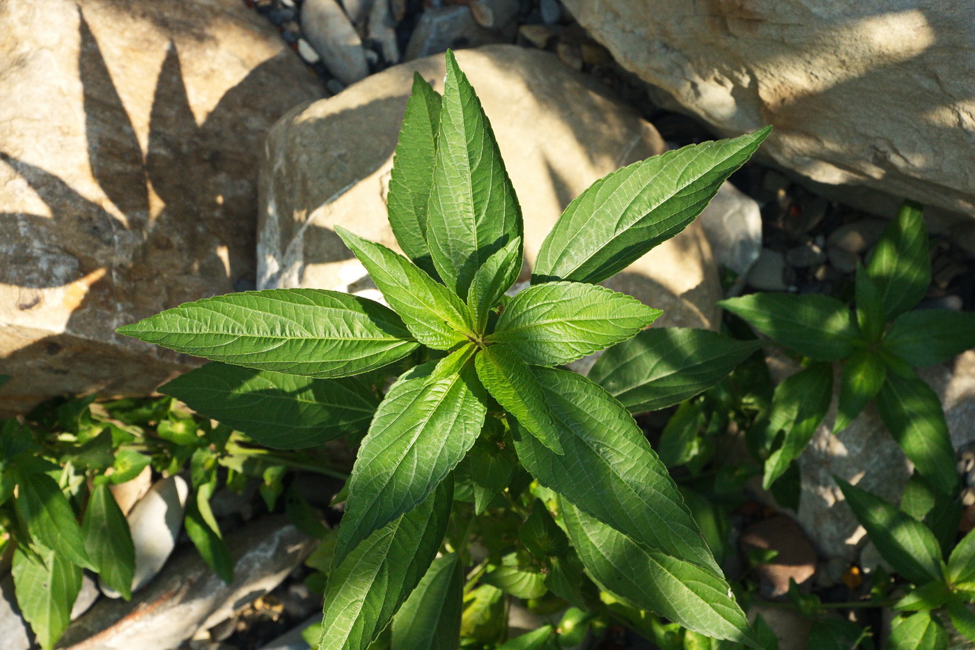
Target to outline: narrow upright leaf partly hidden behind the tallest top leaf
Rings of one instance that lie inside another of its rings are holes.
[[[440,94],[419,72],[413,72],[413,89],[393,156],[386,205],[400,248],[431,275],[437,271],[426,241],[426,210],[437,158],[440,102]]]

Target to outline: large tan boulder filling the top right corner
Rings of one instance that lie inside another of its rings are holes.
[[[565,0],[616,60],[763,151],[975,215],[972,0]]]

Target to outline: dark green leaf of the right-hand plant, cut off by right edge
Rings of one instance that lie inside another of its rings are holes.
[[[949,361],[975,347],[975,313],[951,309],[918,309],[898,316],[883,346],[912,366]]]

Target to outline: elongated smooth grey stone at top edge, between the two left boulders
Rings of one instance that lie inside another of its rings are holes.
[[[369,74],[362,40],[337,0],[305,0],[301,31],[343,84],[354,84]]]

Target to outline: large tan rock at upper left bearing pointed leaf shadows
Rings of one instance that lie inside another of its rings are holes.
[[[321,95],[240,0],[0,3],[0,414],[190,367],[113,330],[253,286],[260,143]]]

